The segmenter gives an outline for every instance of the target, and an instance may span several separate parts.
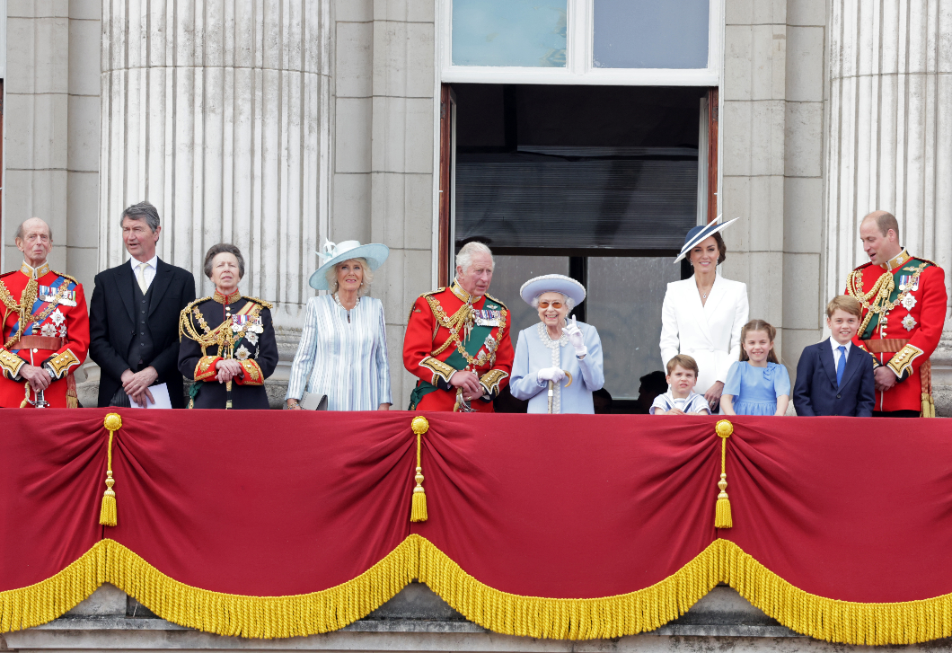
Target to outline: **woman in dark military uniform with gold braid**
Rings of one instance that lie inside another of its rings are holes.
[[[271,305],[243,297],[245,259],[238,247],[214,245],[205,274],[215,294],[195,300],[179,318],[179,371],[195,384],[189,408],[268,408],[267,379],[278,365]]]

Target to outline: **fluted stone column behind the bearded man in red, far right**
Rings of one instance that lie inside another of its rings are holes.
[[[868,258],[864,214],[899,219],[902,245],[952,287],[952,2],[833,0],[824,284],[843,291]],[[952,293],[950,293],[952,296]],[[948,324],[946,324],[948,328]],[[952,414],[952,331],[933,356],[940,414]]]

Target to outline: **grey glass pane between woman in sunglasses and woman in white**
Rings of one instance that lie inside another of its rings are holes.
[[[598,329],[605,389],[613,399],[638,396],[638,379],[661,365],[664,291],[681,279],[673,257],[588,259],[585,321]]]

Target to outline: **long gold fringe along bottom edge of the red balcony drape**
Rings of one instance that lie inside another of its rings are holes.
[[[493,589],[434,544],[410,535],[355,579],[319,592],[256,597],[179,583],[122,544],[103,540],[49,579],[0,592],[0,632],[48,623],[111,583],[163,619],[218,635],[287,638],[366,617],[418,578],[467,619],[497,633],[557,640],[634,635],[677,619],[718,583],[783,625],[834,643],[910,644],[952,634],[952,594],[891,604],[826,599],[787,583],[727,540],[663,581],[597,599],[546,599]]]

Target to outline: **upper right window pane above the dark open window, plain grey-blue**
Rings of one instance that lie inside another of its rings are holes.
[[[595,68],[707,68],[708,0],[595,0]]]

